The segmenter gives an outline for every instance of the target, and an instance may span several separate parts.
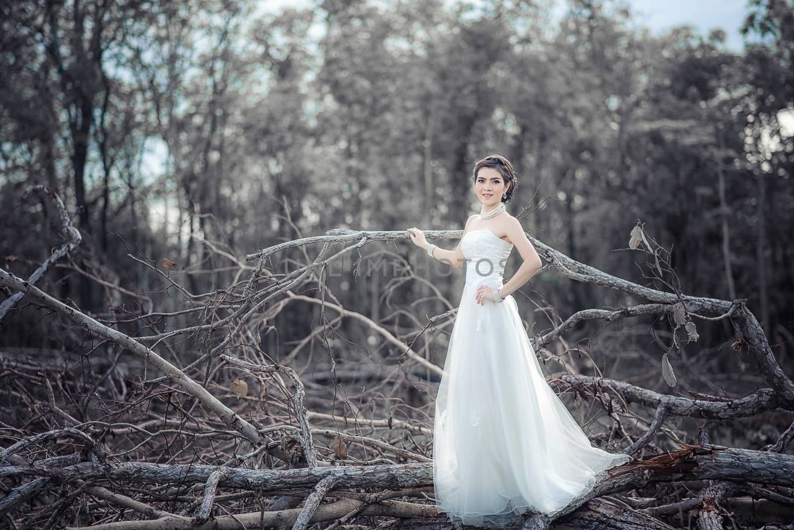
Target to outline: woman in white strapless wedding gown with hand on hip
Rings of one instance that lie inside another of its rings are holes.
[[[555,515],[592,489],[595,474],[631,457],[591,445],[546,382],[526,336],[511,294],[542,263],[505,210],[517,182],[512,164],[487,156],[472,177],[482,209],[466,221],[455,250],[428,244],[419,229],[408,232],[434,259],[455,268],[466,263],[435,404],[437,509],[453,523],[503,526],[527,512]],[[513,247],[523,263],[503,283]]]

